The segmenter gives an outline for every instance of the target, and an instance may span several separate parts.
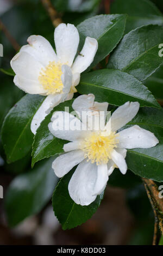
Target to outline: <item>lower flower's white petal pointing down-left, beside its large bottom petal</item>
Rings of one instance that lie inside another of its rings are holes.
[[[58,156],[54,160],[52,168],[54,169],[55,175],[61,178],[83,160],[84,152],[82,150],[74,150]]]

